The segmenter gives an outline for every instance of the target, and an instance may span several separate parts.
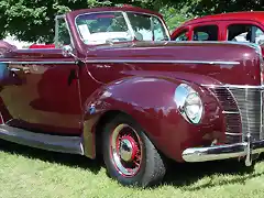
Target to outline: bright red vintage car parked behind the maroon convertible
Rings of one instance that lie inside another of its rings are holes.
[[[264,43],[264,12],[231,12],[189,20],[172,33],[173,41]]]

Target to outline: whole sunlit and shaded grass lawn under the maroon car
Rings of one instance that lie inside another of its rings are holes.
[[[173,164],[164,184],[150,189],[120,186],[100,162],[0,141],[0,198],[244,198],[264,197],[264,160],[255,169],[237,162]]]

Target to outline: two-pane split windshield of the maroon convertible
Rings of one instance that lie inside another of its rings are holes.
[[[85,44],[125,41],[168,41],[169,35],[161,19],[133,12],[87,13],[76,18],[80,38]]]

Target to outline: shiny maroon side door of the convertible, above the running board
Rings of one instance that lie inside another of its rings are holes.
[[[78,66],[62,50],[21,50],[9,58],[1,86],[6,123],[37,132],[78,134]],[[4,62],[2,62],[4,63]]]

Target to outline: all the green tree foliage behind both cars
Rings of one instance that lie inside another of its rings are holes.
[[[0,0],[0,38],[10,33],[23,41],[53,42],[55,15],[119,3],[161,11],[170,30],[195,15],[264,9],[261,0]]]

